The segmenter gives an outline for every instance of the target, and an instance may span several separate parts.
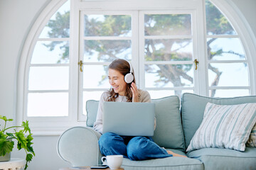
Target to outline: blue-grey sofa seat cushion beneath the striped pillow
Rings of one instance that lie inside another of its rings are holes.
[[[256,148],[246,147],[245,152],[233,149],[204,148],[188,152],[188,157],[199,159],[205,169],[255,169]]]

